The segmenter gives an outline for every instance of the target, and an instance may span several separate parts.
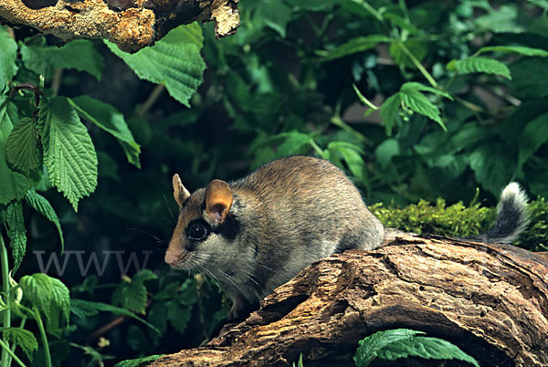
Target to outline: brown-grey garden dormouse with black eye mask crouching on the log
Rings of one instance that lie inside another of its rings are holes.
[[[245,315],[312,261],[350,248],[374,249],[384,227],[332,163],[291,156],[231,182],[190,194],[174,175],[181,208],[165,262],[216,278],[233,300],[228,320]],[[518,184],[501,195],[497,222],[483,242],[509,242],[526,225]]]

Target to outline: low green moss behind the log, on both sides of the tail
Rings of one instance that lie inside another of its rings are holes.
[[[370,209],[385,226],[416,234],[451,237],[479,235],[493,224],[496,215],[495,208],[480,207],[475,200],[469,206],[462,202],[447,206],[445,200],[437,199],[436,204],[421,200],[405,208],[374,204]],[[532,251],[548,251],[548,203],[539,197],[528,205],[528,211],[530,225],[515,245]]]

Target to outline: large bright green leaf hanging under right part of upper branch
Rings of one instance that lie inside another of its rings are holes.
[[[188,100],[202,83],[205,70],[200,55],[202,28],[197,23],[177,26],[153,47],[142,48],[132,55],[122,52],[111,42],[105,42],[139,78],[163,84],[175,100],[190,107]]]

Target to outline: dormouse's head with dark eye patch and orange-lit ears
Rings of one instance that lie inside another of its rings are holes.
[[[165,262],[174,268],[193,269],[222,260],[237,229],[230,213],[234,195],[228,184],[213,180],[190,194],[174,174],[173,185],[180,213]]]

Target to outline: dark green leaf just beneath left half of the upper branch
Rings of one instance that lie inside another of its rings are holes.
[[[44,76],[51,76],[59,68],[74,68],[100,79],[105,65],[90,40],[77,39],[62,47],[47,46],[45,41],[42,38],[41,42],[31,45],[19,42],[26,68]]]

